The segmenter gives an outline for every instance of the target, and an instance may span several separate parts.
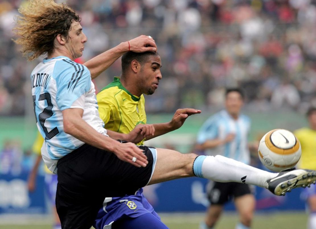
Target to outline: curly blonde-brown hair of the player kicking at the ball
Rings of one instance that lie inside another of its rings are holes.
[[[27,7],[20,7],[19,12],[21,15],[15,18],[17,39],[14,41],[29,61],[52,54],[55,37],[61,34],[68,40],[71,23],[81,21],[70,6],[53,0],[29,0]]]

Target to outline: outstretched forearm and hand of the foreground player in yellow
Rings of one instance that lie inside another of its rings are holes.
[[[201,110],[192,109],[192,108],[178,109],[174,113],[170,122],[151,124],[155,131],[154,131],[154,134],[146,136],[146,140],[149,140],[157,136],[160,136],[162,134],[179,129],[183,125],[187,117],[189,117],[192,114],[200,114],[200,113],[201,113]],[[143,132],[144,132],[144,129],[143,129]]]

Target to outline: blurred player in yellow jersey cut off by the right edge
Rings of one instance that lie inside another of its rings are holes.
[[[299,139],[302,147],[302,156],[298,164],[304,169],[316,169],[316,108],[311,107],[307,111],[309,127],[296,130],[295,136]],[[309,209],[308,229],[316,229],[316,187],[304,189],[302,197],[307,201]]]

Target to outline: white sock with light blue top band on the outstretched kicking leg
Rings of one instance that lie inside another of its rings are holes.
[[[260,170],[220,155],[198,156],[193,164],[194,174],[217,182],[238,182],[268,188],[267,180],[278,173]]]

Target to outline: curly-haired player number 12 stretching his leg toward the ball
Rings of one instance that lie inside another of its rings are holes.
[[[49,169],[57,168],[56,207],[63,229],[90,228],[107,196],[133,195],[147,184],[176,178],[240,183],[245,178],[276,195],[316,182],[316,171],[277,174],[220,155],[137,147],[132,142],[146,137],[141,125],[129,134],[106,131],[91,79],[129,50],[156,51],[154,40],[142,35],[79,65],[74,60],[82,55],[87,37],[73,9],[52,0],[30,0],[19,12],[15,42],[21,51],[29,60],[47,54],[31,73],[31,88],[35,121],[45,138],[42,156]],[[200,112],[178,115],[185,119]]]

